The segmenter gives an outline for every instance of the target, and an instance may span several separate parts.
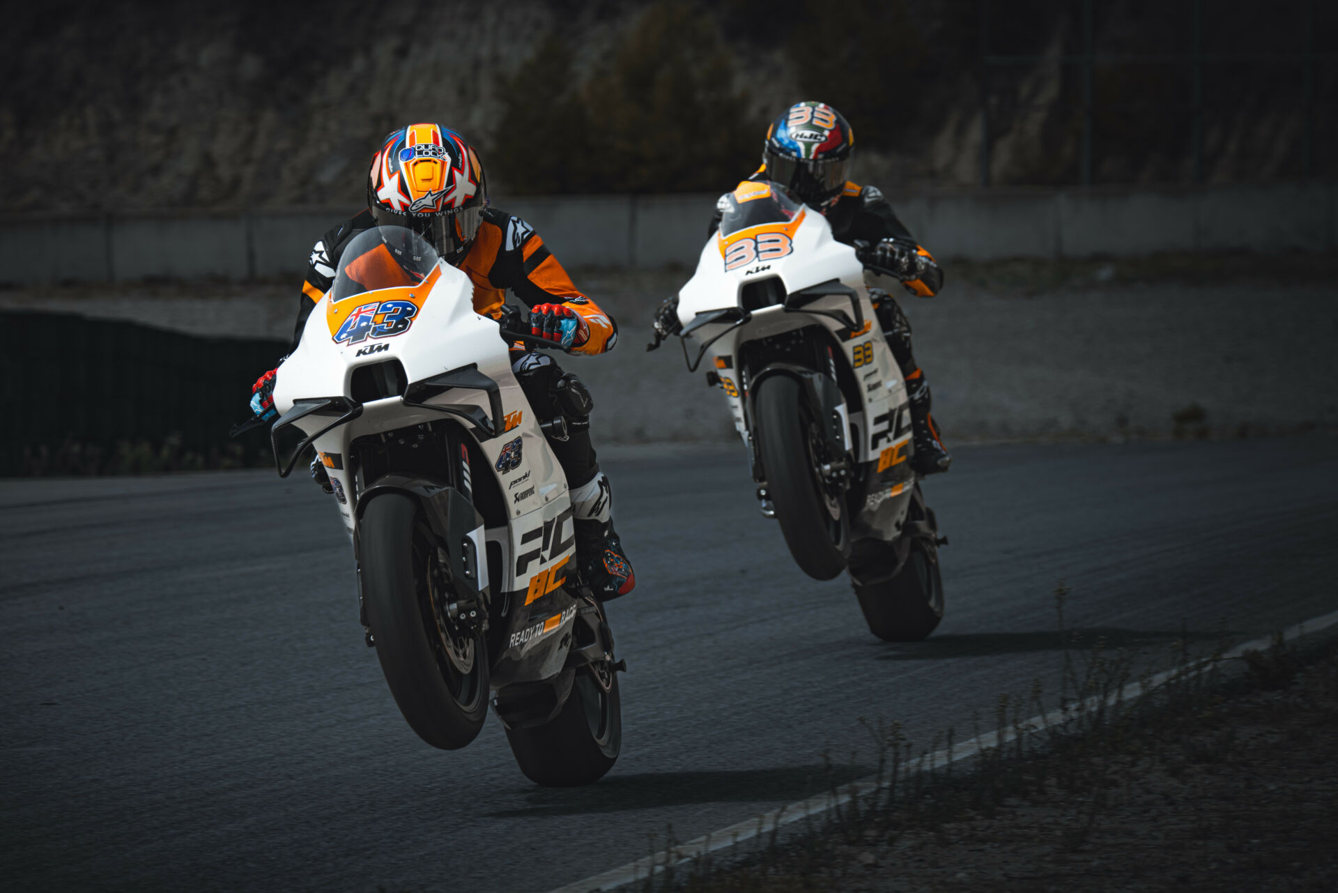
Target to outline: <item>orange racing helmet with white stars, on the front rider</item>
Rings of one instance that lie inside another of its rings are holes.
[[[367,206],[377,225],[417,233],[448,264],[470,250],[487,205],[483,163],[454,130],[409,125],[387,134],[372,158]]]

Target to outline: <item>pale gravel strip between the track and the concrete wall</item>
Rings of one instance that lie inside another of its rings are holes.
[[[1235,436],[1338,426],[1338,278],[1311,270],[1293,284],[1266,284],[1198,276],[1202,265],[1181,265],[1149,284],[1123,272],[1105,265],[1020,281],[1012,268],[977,265],[954,281],[950,266],[938,299],[907,297],[917,357],[949,440],[1156,438],[1177,428]],[[622,335],[607,356],[565,360],[594,392],[597,442],[735,436],[723,398],[686,374],[677,344],[644,349],[653,308],[686,277],[684,270],[575,272],[619,320]],[[0,308],[286,339],[296,295],[290,282],[68,287],[0,292]]]

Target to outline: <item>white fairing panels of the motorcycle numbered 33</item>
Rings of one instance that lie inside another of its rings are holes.
[[[721,388],[733,415],[735,428],[744,443],[751,439],[744,412],[747,383],[740,380],[736,359],[740,349],[749,341],[779,335],[792,329],[822,325],[832,332],[834,340],[842,345],[846,360],[858,380],[860,399],[844,407],[847,435],[856,432],[856,442],[850,443],[858,462],[902,462],[902,454],[910,440],[910,406],[906,384],[891,349],[883,337],[878,319],[874,316],[864,266],[855,256],[855,249],[838,242],[832,237],[827,218],[809,208],[803,209],[804,217],[792,236],[792,250],[775,260],[764,260],[727,270],[719,234],[712,234],[701,250],[693,277],[678,292],[678,319],[690,324],[698,313],[724,308],[744,307],[744,288],[751,282],[777,278],[784,293],[822,285],[832,280],[850,287],[858,295],[860,313],[868,328],[850,335],[838,320],[830,316],[807,313],[804,309],[822,309],[852,313],[848,296],[823,297],[800,311],[785,311],[780,305],[751,309],[747,323],[733,328],[732,321],[710,323],[688,335],[684,341],[689,359],[694,359],[702,344],[725,332],[713,341],[702,357],[702,370],[714,371],[721,379]],[[745,232],[745,230],[744,230]],[[717,359],[720,361],[717,363]],[[880,469],[886,470],[884,469]],[[899,478],[909,478],[906,469],[899,469]],[[900,482],[900,481],[899,481]],[[906,493],[910,486],[891,485],[884,491],[871,491],[866,507],[878,507],[894,495]],[[904,515],[904,501],[899,510],[900,522]]]

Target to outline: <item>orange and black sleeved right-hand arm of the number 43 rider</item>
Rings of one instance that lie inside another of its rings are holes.
[[[508,221],[506,244],[498,252],[488,280],[498,288],[510,288],[526,307],[558,304],[578,315],[585,321],[587,336],[571,347],[573,353],[611,351],[618,340],[618,324],[573,285],[571,277],[538,233],[519,217],[511,221],[515,222]]]

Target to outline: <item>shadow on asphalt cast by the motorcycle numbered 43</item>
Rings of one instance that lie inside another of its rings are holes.
[[[488,813],[490,818],[542,818],[615,813],[625,809],[661,809],[694,803],[773,802],[792,803],[830,790],[832,785],[862,778],[868,766],[789,766],[708,773],[644,773],[610,775],[590,787],[524,789],[523,809]]]

